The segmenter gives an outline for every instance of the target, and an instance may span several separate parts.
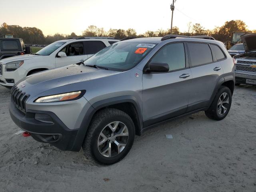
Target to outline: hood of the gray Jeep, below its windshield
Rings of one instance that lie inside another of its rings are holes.
[[[118,73],[121,72],[73,64],[30,75],[18,82],[17,86],[23,92],[36,96],[54,88],[104,78]]]

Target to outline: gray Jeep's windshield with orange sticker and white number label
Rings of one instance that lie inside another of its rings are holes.
[[[156,44],[138,42],[115,43],[84,61],[84,64],[126,71],[136,66],[155,46]]]

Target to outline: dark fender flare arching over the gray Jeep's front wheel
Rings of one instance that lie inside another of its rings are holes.
[[[143,121],[142,121],[142,110],[140,108],[140,105],[138,104],[137,99],[134,96],[118,96],[114,98],[108,98],[104,99],[98,102],[95,102],[90,106],[90,108],[87,110],[86,114],[84,115],[84,118],[82,120],[82,123],[80,127],[78,128],[78,133],[76,135],[76,138],[74,140],[74,144],[72,146],[72,151],[79,151],[81,149],[82,143],[84,141],[84,138],[86,136],[87,130],[90,126],[90,122],[92,120],[92,117],[94,114],[100,110],[101,108],[114,105],[114,104],[121,104],[121,103],[127,103],[130,102],[134,105],[135,110],[137,112],[138,117],[138,126],[139,130],[141,132],[143,128]]]

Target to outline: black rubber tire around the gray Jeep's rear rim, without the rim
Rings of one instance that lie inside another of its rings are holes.
[[[228,94],[229,103],[228,103],[228,105],[226,105],[226,108],[227,108],[226,112],[224,114],[219,114],[217,104],[218,104],[218,100],[219,100],[220,96],[222,96],[223,93]],[[231,103],[232,103],[232,94],[231,94],[230,89],[226,86],[221,86],[219,88],[218,92],[216,93],[210,108],[208,108],[208,110],[205,111],[205,114],[210,119],[222,120],[228,115]]]

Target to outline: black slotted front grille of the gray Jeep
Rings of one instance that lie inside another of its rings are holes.
[[[20,90],[16,85],[12,87],[11,94],[15,106],[22,112],[26,113],[25,102],[28,99],[29,95],[25,92],[22,92],[22,90]]]

